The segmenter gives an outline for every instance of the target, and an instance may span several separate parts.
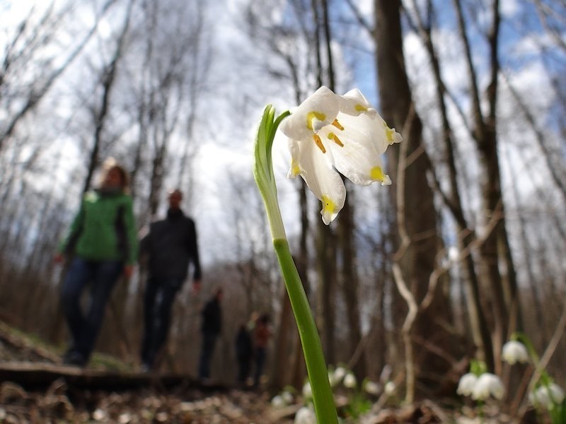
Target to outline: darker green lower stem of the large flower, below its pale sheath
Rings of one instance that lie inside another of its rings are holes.
[[[318,423],[324,424],[337,423],[336,407],[330,382],[328,381],[328,370],[320,338],[318,337],[318,330],[316,329],[301,278],[291,257],[289,243],[287,239],[277,238],[273,240],[273,247],[275,247],[277,259],[279,259],[279,266],[281,266],[285,287],[287,288],[287,293],[289,293],[296,325],[299,328],[299,336],[301,336],[306,370],[313,391],[316,420]]]

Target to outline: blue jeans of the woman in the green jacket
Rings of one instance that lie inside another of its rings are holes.
[[[77,365],[86,364],[91,356],[106,303],[123,269],[122,261],[88,261],[76,257],[67,270],[61,303],[71,332],[71,346],[67,353],[80,358]],[[81,295],[88,284],[91,285],[91,293],[86,312],[83,312]]]

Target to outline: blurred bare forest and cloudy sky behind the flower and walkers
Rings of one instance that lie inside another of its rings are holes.
[[[162,370],[196,372],[200,307],[224,287],[213,377],[236,328],[272,317],[269,381],[300,387],[296,327],[251,175],[263,107],[358,87],[403,143],[391,187],[352,187],[325,226],[275,171],[326,358],[391,367],[406,399],[454,393],[469,361],[509,369],[524,331],[566,384],[566,4],[563,0],[0,1],[0,318],[64,346],[52,258],[108,156],[137,225],[185,192],[203,290],[175,305]],[[143,276],[122,281],[98,351],[137,363]],[[510,378],[513,378],[511,376]]]

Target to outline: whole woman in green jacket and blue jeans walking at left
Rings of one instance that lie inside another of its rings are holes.
[[[69,235],[55,259],[71,257],[61,302],[71,333],[64,363],[84,366],[91,356],[112,288],[124,274],[132,275],[137,258],[137,235],[128,193],[128,175],[114,160],[103,166],[102,184],[85,194]],[[87,310],[81,294],[90,284]]]

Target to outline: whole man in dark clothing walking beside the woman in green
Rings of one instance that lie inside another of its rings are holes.
[[[167,218],[151,223],[140,242],[140,261],[147,265],[144,293],[144,337],[141,363],[144,370],[154,367],[156,356],[165,343],[171,324],[175,295],[193,265],[193,291],[200,290],[200,261],[197,231],[193,220],[180,208],[183,194],[175,189],[169,194]]]

